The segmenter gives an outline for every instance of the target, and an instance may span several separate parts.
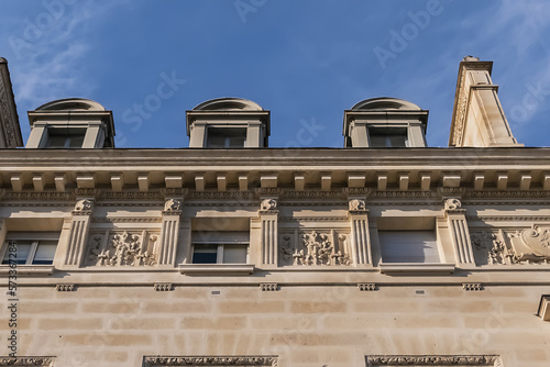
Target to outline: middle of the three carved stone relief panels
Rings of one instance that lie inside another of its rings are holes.
[[[280,265],[350,265],[349,235],[336,231],[295,231],[279,235]]]

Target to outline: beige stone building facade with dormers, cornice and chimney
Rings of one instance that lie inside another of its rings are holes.
[[[428,111],[344,111],[344,147],[270,148],[270,111],[187,112],[189,148],[114,148],[86,99],[29,112],[0,62],[0,366],[499,366],[550,360],[550,148],[490,62]],[[14,320],[14,321],[13,321]]]

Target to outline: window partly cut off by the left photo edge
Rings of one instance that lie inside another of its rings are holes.
[[[8,249],[13,244],[15,253]],[[2,264],[10,264],[10,259],[14,259],[20,265],[52,265],[56,248],[57,240],[8,240]]]

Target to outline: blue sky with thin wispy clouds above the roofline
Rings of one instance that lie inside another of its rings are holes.
[[[550,145],[547,0],[2,0],[1,10],[25,140],[26,111],[81,97],[113,111],[119,147],[186,147],[186,110],[241,97],[272,111],[271,146],[341,147],[345,109],[396,97],[429,110],[428,144],[447,146],[459,63],[474,55],[494,62],[518,142]],[[305,126],[316,127],[297,140]]]

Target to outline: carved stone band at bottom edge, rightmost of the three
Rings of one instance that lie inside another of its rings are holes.
[[[421,356],[421,355],[393,355],[393,356],[367,356],[366,365],[369,367],[380,366],[499,366],[499,357],[495,355],[475,355],[475,356]]]

